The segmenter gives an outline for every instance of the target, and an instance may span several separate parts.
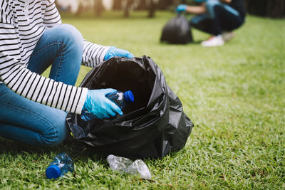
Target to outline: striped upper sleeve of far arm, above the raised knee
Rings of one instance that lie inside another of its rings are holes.
[[[58,13],[58,9],[56,9],[56,3],[54,0],[46,1],[46,11],[43,16],[43,23],[47,28],[51,28],[58,24],[61,24],[61,16]]]

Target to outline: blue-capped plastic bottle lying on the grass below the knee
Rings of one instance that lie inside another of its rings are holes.
[[[71,157],[66,154],[66,152],[62,152],[61,154],[56,155],[54,157],[53,162],[48,165],[46,169],[46,177],[48,179],[56,179],[60,176],[63,176],[66,172],[74,171],[74,164]]]

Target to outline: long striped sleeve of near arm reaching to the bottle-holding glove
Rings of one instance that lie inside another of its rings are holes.
[[[0,8],[1,81],[29,100],[80,114],[88,89],[56,82],[28,70],[21,60],[19,37],[5,8],[5,5]]]

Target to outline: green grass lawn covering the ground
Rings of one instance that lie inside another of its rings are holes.
[[[150,56],[195,124],[184,149],[146,159],[152,181],[110,170],[105,159],[78,144],[28,147],[0,138],[0,189],[285,189],[285,20],[247,17],[225,46],[159,43],[173,14],[63,16],[84,38]],[[82,67],[77,85],[89,68]],[[47,75],[45,73],[44,75]],[[49,180],[51,159],[66,151],[76,174]]]

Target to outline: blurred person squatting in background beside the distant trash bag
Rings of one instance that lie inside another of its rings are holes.
[[[180,4],[176,11],[197,14],[190,20],[194,28],[210,33],[202,46],[222,46],[234,37],[232,31],[244,23],[245,9],[243,0],[195,0],[199,6]]]

